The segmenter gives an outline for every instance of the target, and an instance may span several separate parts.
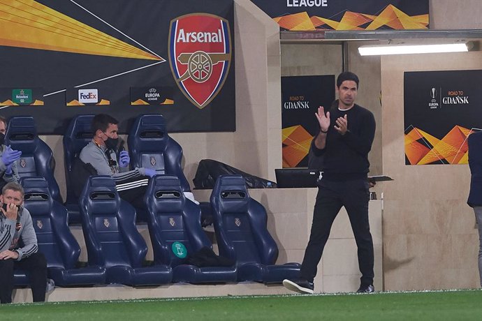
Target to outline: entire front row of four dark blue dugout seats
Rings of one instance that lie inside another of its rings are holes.
[[[68,230],[66,209],[52,200],[47,181],[29,178],[22,183],[40,251],[57,285],[279,283],[299,273],[298,263],[274,265],[278,249],[266,229],[265,209],[249,197],[239,175],[220,177],[211,196],[219,253],[235,262],[231,267],[196,267],[182,260],[212,244],[200,225],[198,205],[184,197],[177,177],[157,175],[149,183],[145,201],[154,249],[154,265],[149,267],[143,267],[147,244],[136,229],[136,211],[119,198],[110,177],[90,177],[82,192],[80,213],[89,257],[89,267],[82,269],[75,268],[80,249]],[[25,279],[17,274],[15,281],[20,285]]]

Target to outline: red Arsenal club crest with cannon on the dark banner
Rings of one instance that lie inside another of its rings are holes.
[[[170,21],[169,64],[177,86],[202,109],[223,87],[231,64],[231,31],[217,15],[193,13]]]

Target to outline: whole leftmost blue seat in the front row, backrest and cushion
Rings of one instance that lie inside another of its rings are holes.
[[[24,207],[29,210],[37,235],[38,251],[45,255],[48,277],[55,285],[94,285],[105,283],[105,269],[75,265],[80,246],[67,225],[66,208],[53,200],[43,177],[22,179]]]

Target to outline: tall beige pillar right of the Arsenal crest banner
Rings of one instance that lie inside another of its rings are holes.
[[[281,136],[279,27],[247,0],[235,1],[235,17],[235,159],[229,165],[274,180],[273,169],[282,164],[281,140],[270,135],[277,129]]]

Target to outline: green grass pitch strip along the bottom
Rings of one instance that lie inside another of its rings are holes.
[[[0,320],[481,320],[482,290],[0,306]]]

